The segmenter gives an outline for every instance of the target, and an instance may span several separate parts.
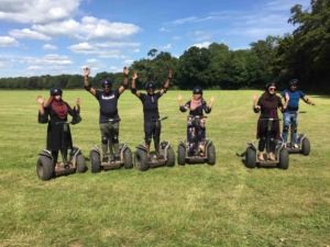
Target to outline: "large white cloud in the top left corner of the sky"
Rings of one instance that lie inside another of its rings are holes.
[[[0,20],[19,23],[51,23],[73,18],[81,0],[1,0]]]

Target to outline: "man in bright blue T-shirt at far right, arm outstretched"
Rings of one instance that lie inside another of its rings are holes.
[[[287,109],[286,111],[283,113],[283,142],[286,144],[287,142],[287,135],[288,135],[288,128],[290,125],[290,120],[292,117],[295,117],[296,112],[298,112],[299,109],[299,100],[302,99],[306,103],[310,104],[310,105],[316,105],[314,102],[311,102],[301,90],[298,90],[298,83],[299,80],[298,79],[292,79],[289,81],[289,90],[284,90],[279,98],[284,98],[285,93],[289,94],[289,101],[287,104]],[[294,130],[294,142],[295,142],[295,148],[298,148],[298,144],[297,144],[297,126],[298,126],[298,121],[299,121],[299,115],[297,114],[296,117],[296,126]]]

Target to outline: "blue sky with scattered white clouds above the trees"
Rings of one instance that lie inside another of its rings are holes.
[[[283,36],[290,8],[310,0],[1,0],[0,78],[122,71],[156,48],[250,48]]]

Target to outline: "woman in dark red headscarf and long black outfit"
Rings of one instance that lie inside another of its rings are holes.
[[[56,123],[67,121],[68,114],[73,116],[73,121],[72,121],[73,124],[79,123],[81,121],[79,116],[80,99],[77,98],[76,105],[74,109],[72,109],[68,105],[68,103],[63,100],[62,98],[63,91],[61,88],[53,87],[51,88],[50,92],[51,92],[51,97],[45,105],[42,96],[36,97],[36,101],[40,104],[38,123],[48,123],[46,149],[52,151],[55,169],[58,169],[59,168],[57,164],[58,150],[62,150],[63,145],[65,147],[68,147],[69,149],[73,149],[73,139],[72,139],[69,125],[67,125],[68,128],[63,138],[64,125],[56,124]]]

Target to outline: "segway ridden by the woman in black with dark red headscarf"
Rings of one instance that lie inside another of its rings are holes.
[[[67,160],[67,149],[65,136],[68,132],[68,125],[72,122],[57,122],[56,124],[63,124],[63,135],[62,135],[62,162],[58,162],[58,169],[55,169],[54,158],[52,151],[44,149],[38,153],[40,157],[36,161],[36,173],[42,180],[50,180],[54,176],[58,177],[61,175],[68,173],[81,173],[86,170],[86,160],[79,147],[73,147],[69,153],[69,160]]]

